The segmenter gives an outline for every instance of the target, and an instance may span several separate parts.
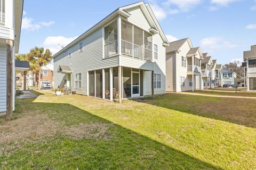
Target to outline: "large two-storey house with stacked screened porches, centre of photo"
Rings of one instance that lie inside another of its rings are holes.
[[[53,56],[54,88],[119,102],[165,94],[166,46],[149,4],[120,7]]]

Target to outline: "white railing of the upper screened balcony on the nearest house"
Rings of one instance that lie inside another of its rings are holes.
[[[105,44],[105,57],[117,55],[118,43],[117,41]],[[123,55],[131,56],[138,59],[152,61],[152,50],[143,46],[132,44],[130,42],[121,41],[121,53]]]

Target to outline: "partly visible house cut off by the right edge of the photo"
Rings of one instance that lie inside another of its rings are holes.
[[[256,45],[251,46],[250,51],[244,51],[246,62],[247,90],[256,90]]]

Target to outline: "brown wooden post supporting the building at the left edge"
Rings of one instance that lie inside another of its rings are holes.
[[[6,119],[12,119],[12,111],[13,111],[13,41],[10,39],[6,39],[7,45],[7,63],[6,63]]]

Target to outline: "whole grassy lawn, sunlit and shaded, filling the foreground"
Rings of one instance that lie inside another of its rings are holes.
[[[14,120],[0,118],[0,169],[256,168],[254,99],[38,92],[16,101]]]

